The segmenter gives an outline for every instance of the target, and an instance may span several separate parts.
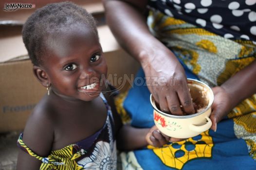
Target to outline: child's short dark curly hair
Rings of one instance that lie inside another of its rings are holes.
[[[98,37],[96,22],[91,14],[72,2],[48,4],[32,14],[22,29],[23,42],[34,65],[42,62],[40,56],[46,50],[46,37],[62,28],[82,23],[89,26]]]

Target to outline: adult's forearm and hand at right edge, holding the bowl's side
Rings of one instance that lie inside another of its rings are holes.
[[[221,86],[214,87],[214,103],[212,106],[212,129],[217,123],[244,99],[256,93],[256,61],[230,77]]]

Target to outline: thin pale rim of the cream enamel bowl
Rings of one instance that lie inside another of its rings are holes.
[[[150,94],[150,103],[151,103],[151,106],[154,108],[154,111],[157,111],[158,113],[160,113],[160,114],[162,114],[162,115],[164,115],[164,116],[170,117],[170,118],[187,119],[187,118],[192,118],[192,117],[201,115],[201,114],[203,114],[206,110],[208,110],[208,109],[212,106],[213,101],[214,101],[214,94],[213,94],[212,89],[211,89],[207,84],[205,84],[204,82],[201,82],[201,81],[199,81],[199,80],[196,80],[196,79],[193,79],[193,78],[187,78],[187,80],[196,81],[196,82],[198,82],[198,83],[200,83],[200,84],[203,84],[204,86],[206,86],[206,87],[209,89],[211,95],[213,96],[213,100],[208,103],[208,106],[207,106],[206,108],[204,108],[203,110],[201,110],[201,111],[198,112],[198,113],[190,114],[190,115],[184,115],[184,116],[177,116],[177,115],[167,114],[167,113],[165,113],[165,112],[159,110],[159,109],[155,106],[155,101],[153,100],[153,95]]]

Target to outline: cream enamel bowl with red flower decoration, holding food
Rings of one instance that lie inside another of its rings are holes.
[[[150,95],[156,126],[163,134],[172,138],[186,139],[195,137],[208,130],[212,125],[209,116],[214,94],[211,88],[205,83],[191,78],[187,79],[187,84],[195,108],[194,114],[177,116],[165,113],[160,110],[152,94]]]

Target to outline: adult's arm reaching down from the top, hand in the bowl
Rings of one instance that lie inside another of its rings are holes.
[[[194,113],[182,65],[148,30],[144,15],[147,0],[103,2],[111,31],[119,44],[141,63],[147,87],[161,110],[182,115],[182,105],[186,113]]]

